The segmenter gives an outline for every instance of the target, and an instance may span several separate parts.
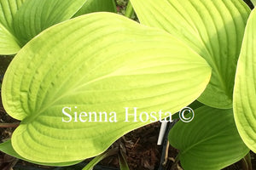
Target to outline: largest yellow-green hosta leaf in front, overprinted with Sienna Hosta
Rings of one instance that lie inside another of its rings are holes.
[[[183,42],[124,16],[94,13],[62,22],[28,42],[3,78],[4,108],[22,121],[12,145],[32,161],[96,156],[148,124],[149,119],[139,121],[141,111],[175,113],[189,105],[206,88],[210,74],[207,62]],[[124,122],[124,107],[130,114],[137,107],[137,122],[132,115]],[[75,122],[81,111],[95,111],[97,117]],[[100,111],[108,113],[106,122],[95,122]],[[110,122],[112,111],[116,122]]]

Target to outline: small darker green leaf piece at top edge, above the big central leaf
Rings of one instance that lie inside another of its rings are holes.
[[[84,3],[84,6],[80,8],[79,12],[77,12],[74,17],[101,11],[116,13],[114,0],[87,0],[86,3]]]

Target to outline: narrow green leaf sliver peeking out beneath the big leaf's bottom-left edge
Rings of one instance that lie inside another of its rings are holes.
[[[19,154],[17,154],[17,152],[15,152],[15,150],[11,144],[11,140],[1,143],[0,150],[3,151],[4,153],[8,154],[9,156],[14,156],[14,157],[24,160],[24,161],[30,161],[30,160],[27,160],[27,159],[21,157]],[[40,164],[40,165],[48,165],[48,166],[68,166],[68,165],[77,164],[80,161],[61,162],[61,163],[44,163],[44,162],[37,162],[37,161],[30,161],[30,162],[35,163],[35,164]]]

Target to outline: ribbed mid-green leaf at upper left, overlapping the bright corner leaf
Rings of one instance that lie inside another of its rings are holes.
[[[22,45],[48,28],[70,19],[86,0],[29,0],[23,3],[15,15],[15,35]]]

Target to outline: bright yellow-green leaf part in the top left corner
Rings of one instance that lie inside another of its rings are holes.
[[[25,0],[0,0],[0,54],[15,54],[20,42],[14,36],[13,20]]]

